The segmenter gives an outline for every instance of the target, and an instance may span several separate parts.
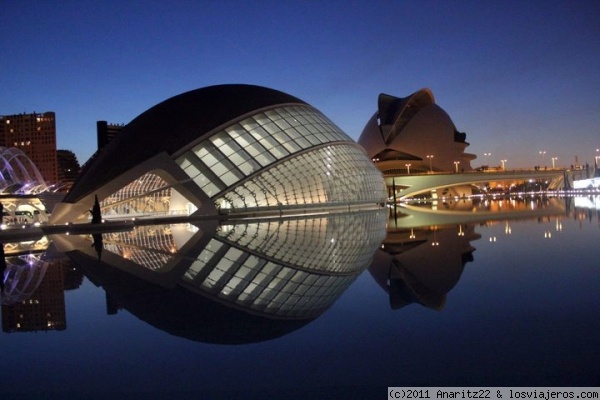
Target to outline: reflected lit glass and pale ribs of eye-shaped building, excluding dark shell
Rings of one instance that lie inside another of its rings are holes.
[[[57,235],[52,240],[86,271],[94,265],[110,271],[103,268],[109,264],[155,287],[245,314],[311,319],[368,267],[385,236],[386,214],[370,210],[225,225],[140,226],[102,235],[103,264],[90,246],[97,239]]]

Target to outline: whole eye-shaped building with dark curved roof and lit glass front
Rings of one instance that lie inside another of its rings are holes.
[[[364,208],[386,198],[364,150],[286,93],[218,85],[144,112],[84,166],[52,223],[105,218]]]

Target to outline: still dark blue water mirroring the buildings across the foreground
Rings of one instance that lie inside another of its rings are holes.
[[[87,237],[5,244],[0,398],[598,386],[598,204],[144,227],[105,234],[102,262]]]

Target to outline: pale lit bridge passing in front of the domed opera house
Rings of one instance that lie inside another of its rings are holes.
[[[386,175],[384,176],[384,179],[388,188],[395,187],[396,192],[400,190],[397,200],[402,200],[407,197],[430,193],[432,190],[490,181],[550,180],[552,181],[550,184],[551,188],[562,189],[564,187],[565,171],[571,174],[570,181],[572,182],[573,171],[564,169],[421,173],[394,176]]]

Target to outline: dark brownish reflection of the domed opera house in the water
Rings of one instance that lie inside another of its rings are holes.
[[[474,225],[394,228],[376,252],[369,272],[388,293],[392,309],[411,303],[441,310],[446,294],[473,261]]]

